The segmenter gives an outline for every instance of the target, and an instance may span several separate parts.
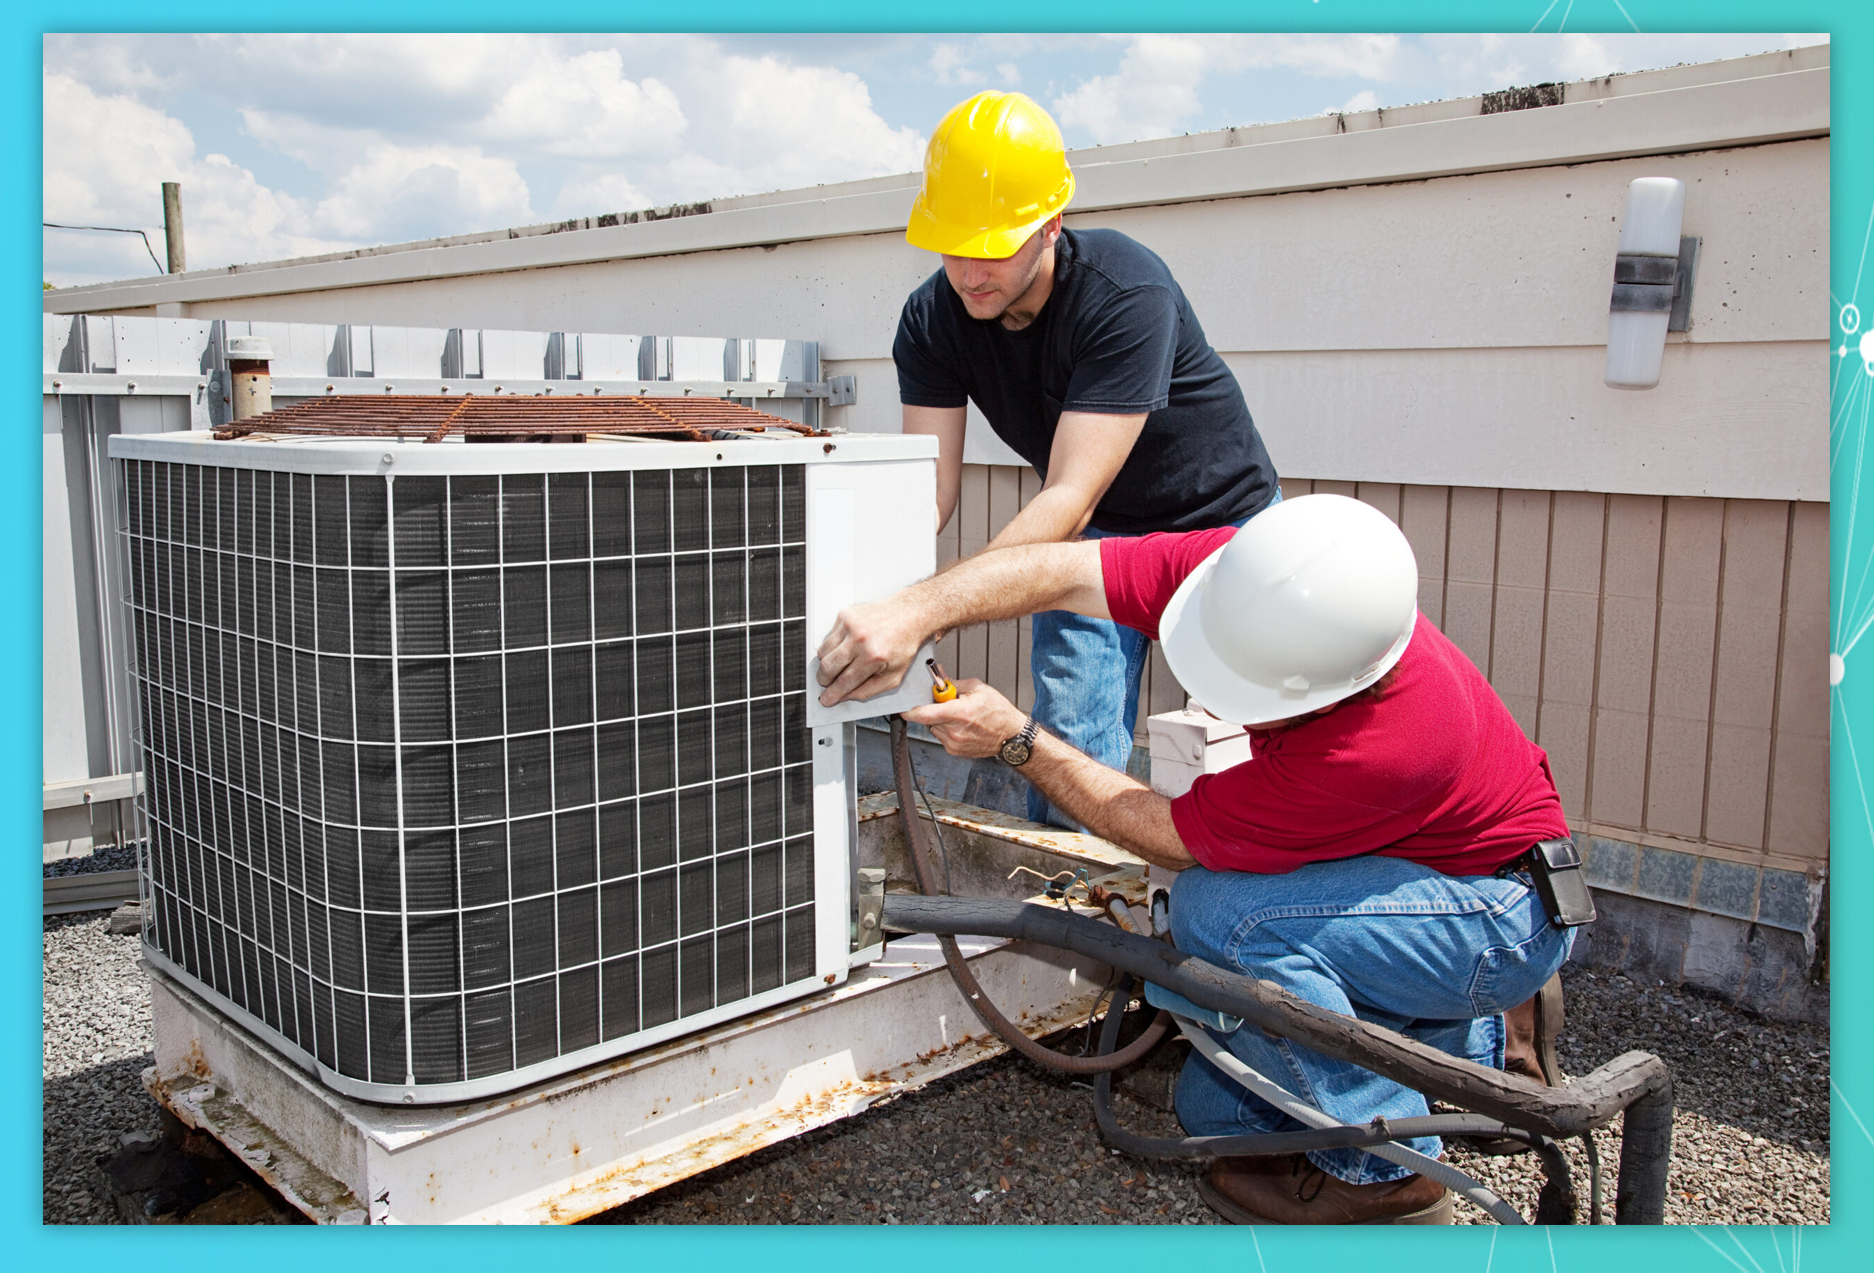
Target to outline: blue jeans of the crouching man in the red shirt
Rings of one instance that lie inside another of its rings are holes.
[[[1171,934],[1203,960],[1495,1069],[1503,1069],[1501,1012],[1535,996],[1574,941],[1572,928],[1548,922],[1524,876],[1443,876],[1374,855],[1286,876],[1186,870],[1171,889]],[[1428,1112],[1409,1087],[1254,1026],[1218,1041],[1342,1123]],[[1177,1116],[1192,1136],[1302,1129],[1196,1052],[1179,1078]],[[1437,1138],[1407,1144],[1439,1153]],[[1364,1149],[1308,1157],[1355,1185],[1411,1174]]]

